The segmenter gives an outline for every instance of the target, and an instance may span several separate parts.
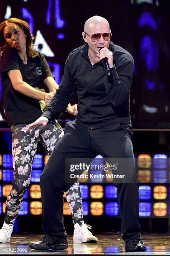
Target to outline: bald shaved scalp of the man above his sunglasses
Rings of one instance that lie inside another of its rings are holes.
[[[91,31],[94,31],[94,29],[98,28],[99,26],[100,28],[101,26],[105,26],[105,27],[107,26],[109,31],[109,22],[107,21],[107,19],[95,15],[89,18],[88,20],[86,20],[84,24],[84,31],[86,31],[87,33],[90,33]]]

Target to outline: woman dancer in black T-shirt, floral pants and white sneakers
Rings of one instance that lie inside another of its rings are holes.
[[[49,104],[58,88],[46,59],[34,51],[33,39],[28,23],[23,20],[9,18],[0,23],[0,73],[5,113],[12,131],[14,171],[5,221],[0,230],[1,243],[10,242],[15,219],[30,184],[38,140],[50,155],[63,136],[57,121],[26,133],[29,123],[42,115],[44,105]],[[75,105],[69,105],[67,110],[74,115],[77,113]],[[96,243],[97,238],[83,221],[79,183],[73,184],[66,192],[66,199],[74,221],[74,242]]]

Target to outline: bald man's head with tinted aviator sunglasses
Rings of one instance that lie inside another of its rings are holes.
[[[103,47],[109,48],[110,27],[108,21],[103,17],[93,16],[86,20],[82,35],[84,41],[89,45],[89,51],[93,54],[98,54]]]

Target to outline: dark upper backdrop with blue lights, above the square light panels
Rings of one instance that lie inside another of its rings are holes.
[[[133,128],[169,128],[169,0],[2,0],[0,8],[0,21],[10,16],[28,21],[36,49],[45,54],[58,83],[68,54],[84,44],[84,22],[93,15],[109,20],[114,44],[134,57]]]

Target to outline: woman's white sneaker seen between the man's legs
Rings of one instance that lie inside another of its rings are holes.
[[[91,226],[86,225],[84,222],[82,226],[76,223],[74,225],[73,243],[97,243],[98,239],[93,236],[88,228],[91,229]]]

